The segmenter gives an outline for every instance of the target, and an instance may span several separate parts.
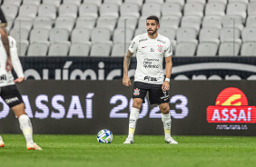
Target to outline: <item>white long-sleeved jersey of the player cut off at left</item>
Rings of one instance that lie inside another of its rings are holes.
[[[11,36],[9,36],[8,39],[10,44],[10,54],[11,54],[12,64],[15,68],[15,72],[18,75],[18,77],[24,77],[23,69],[17,55],[17,47],[16,47],[15,39]],[[0,41],[0,87],[15,84],[14,76],[12,72],[10,71],[7,72],[5,70],[6,60],[7,60],[7,54],[5,51],[5,47],[2,41]]]

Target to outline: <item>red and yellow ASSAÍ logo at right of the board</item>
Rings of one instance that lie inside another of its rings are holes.
[[[249,106],[240,89],[229,87],[207,108],[208,123],[256,123],[256,108]]]

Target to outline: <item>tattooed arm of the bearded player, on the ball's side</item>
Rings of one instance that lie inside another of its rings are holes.
[[[130,50],[128,50],[127,54],[124,56],[124,59],[123,59],[123,84],[125,86],[132,85],[131,80],[128,76],[128,69],[129,69],[132,56],[133,56],[133,53]]]

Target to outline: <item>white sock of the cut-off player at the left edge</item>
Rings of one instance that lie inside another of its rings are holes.
[[[20,123],[20,128],[24,134],[25,141],[26,142],[34,142],[33,137],[32,137],[32,135],[33,135],[32,124],[26,114],[22,114],[19,117],[19,123]]]

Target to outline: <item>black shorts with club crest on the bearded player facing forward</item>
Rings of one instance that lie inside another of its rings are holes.
[[[134,82],[133,84],[133,98],[143,99],[145,103],[145,96],[149,92],[149,101],[151,104],[169,103],[168,92],[162,92],[162,84]]]

